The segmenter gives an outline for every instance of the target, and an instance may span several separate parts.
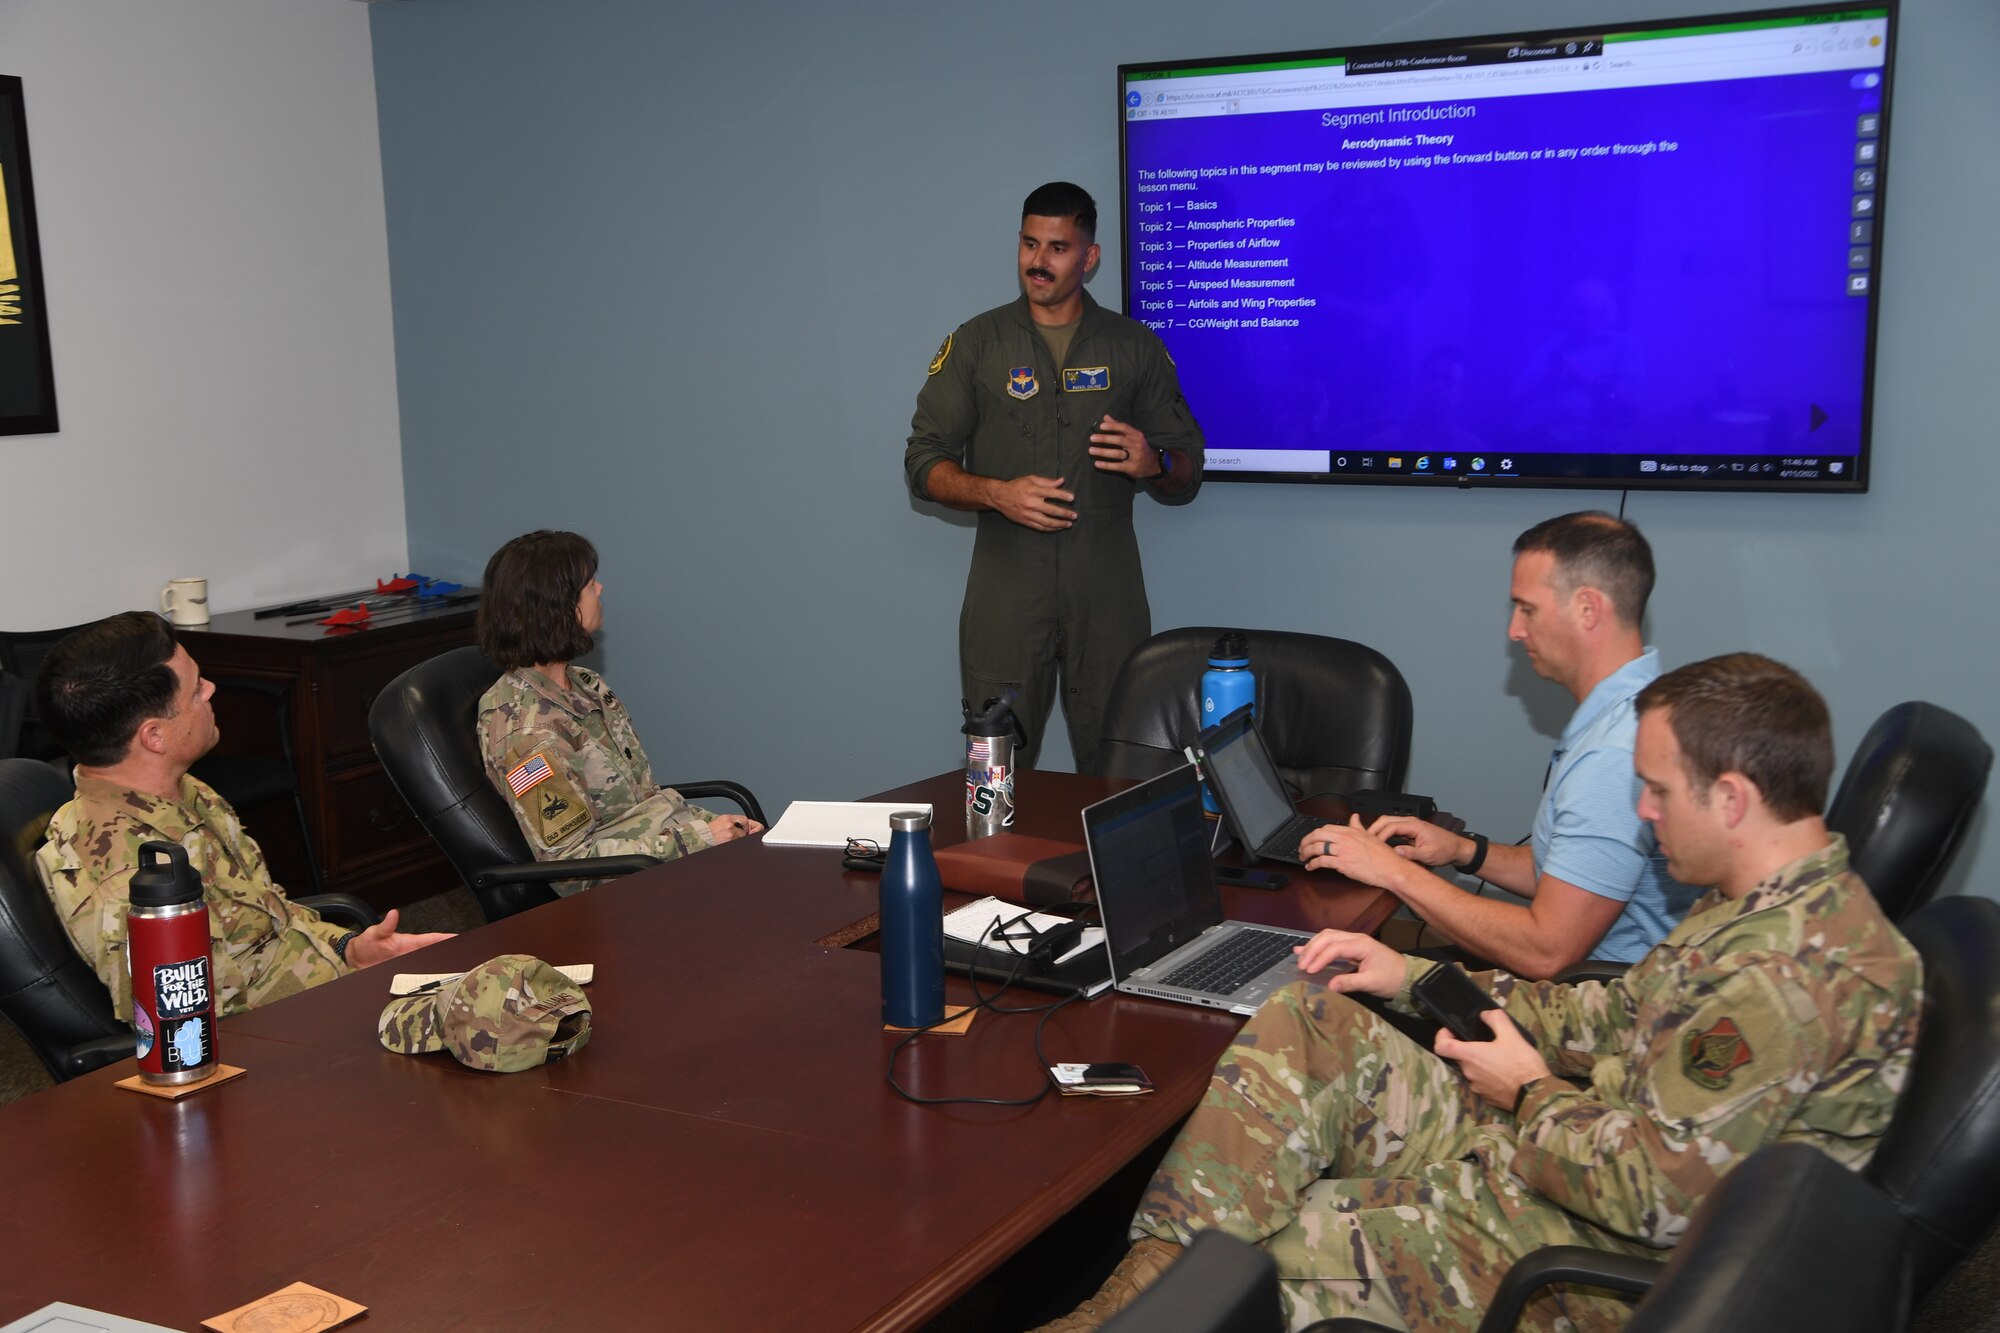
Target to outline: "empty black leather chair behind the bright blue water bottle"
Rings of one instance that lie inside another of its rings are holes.
[[[1132,650],[1112,681],[1096,771],[1150,779],[1184,765],[1200,735],[1208,650],[1228,630],[1162,630]],[[1346,638],[1240,630],[1256,675],[1256,721],[1294,797],[1402,791],[1410,769],[1410,687],[1396,664]]]

